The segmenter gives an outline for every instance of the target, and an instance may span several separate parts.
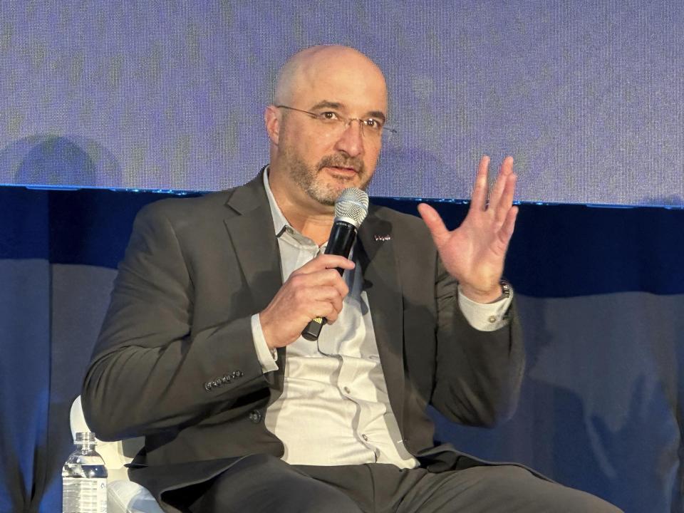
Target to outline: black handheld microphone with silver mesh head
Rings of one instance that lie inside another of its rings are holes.
[[[368,195],[356,187],[343,190],[335,201],[335,219],[328,237],[326,254],[349,257],[351,247],[356,239],[356,230],[368,214]],[[344,269],[337,268],[340,276]],[[317,341],[321,328],[326,323],[325,317],[316,317],[306,325],[301,336],[308,341]]]

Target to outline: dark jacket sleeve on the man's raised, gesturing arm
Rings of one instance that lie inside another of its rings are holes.
[[[497,331],[473,328],[459,309],[457,282],[437,260],[437,351],[431,403],[457,423],[496,425],[517,408],[524,372],[515,300],[507,326]]]

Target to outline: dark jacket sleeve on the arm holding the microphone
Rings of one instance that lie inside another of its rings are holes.
[[[135,219],[83,383],[86,421],[102,440],[193,423],[268,386],[249,316],[227,312],[195,332],[193,301],[177,231],[151,204]]]

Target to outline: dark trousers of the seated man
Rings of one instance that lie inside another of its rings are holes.
[[[176,493],[192,513],[621,511],[598,497],[543,480],[515,465],[434,474],[381,464],[289,465],[270,455],[244,458],[214,480]]]

